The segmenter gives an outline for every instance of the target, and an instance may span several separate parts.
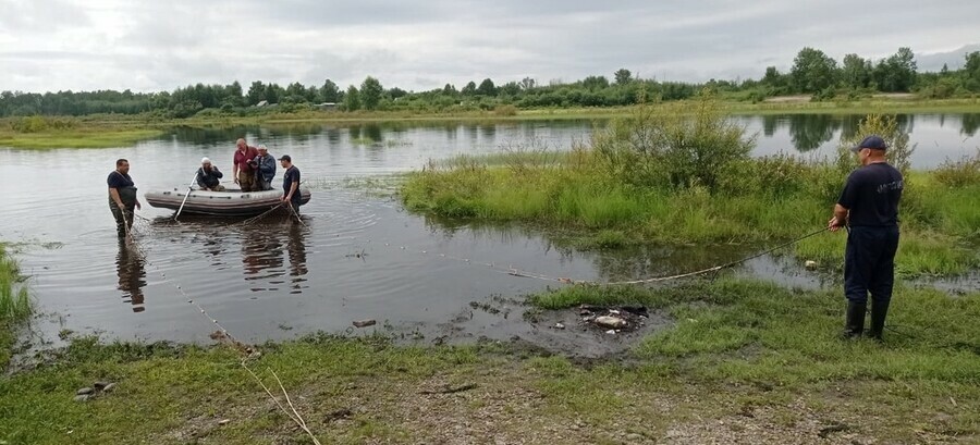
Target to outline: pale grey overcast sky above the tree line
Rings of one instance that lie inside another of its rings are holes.
[[[0,0],[0,90],[760,77],[805,46],[956,50],[978,17],[978,0]]]

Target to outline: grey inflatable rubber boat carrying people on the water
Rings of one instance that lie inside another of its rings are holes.
[[[301,187],[299,203],[309,202],[309,189]],[[191,196],[187,196],[189,193]],[[206,214],[216,217],[252,217],[272,210],[282,202],[282,190],[242,191],[228,189],[224,191],[188,190],[154,190],[146,195],[146,202],[154,207],[177,210],[184,197],[186,214]]]

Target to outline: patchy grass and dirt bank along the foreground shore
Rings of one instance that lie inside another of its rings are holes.
[[[311,336],[261,346],[249,367],[279,394],[275,371],[324,444],[970,443],[980,435],[977,294],[901,289],[892,320],[909,335],[889,332],[885,345],[835,338],[837,296],[755,282],[575,286],[531,301],[642,302],[676,324],[622,360]],[[311,443],[240,360],[225,347],[75,339],[38,368],[0,378],[0,441]],[[117,386],[73,400],[95,381]]]

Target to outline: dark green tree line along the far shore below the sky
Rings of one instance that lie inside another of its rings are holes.
[[[442,88],[424,91],[384,88],[372,76],[345,89],[326,79],[319,86],[295,82],[285,87],[255,81],[247,89],[235,81],[229,85],[196,84],[161,92],[7,90],[0,92],[0,116],[150,113],[160,118],[189,118],[223,113],[247,115],[266,110],[290,112],[318,104],[342,111],[498,109],[515,112],[527,108],[616,107],[639,101],[673,101],[703,90],[730,100],[754,102],[794,94],[811,95],[814,100],[858,98],[874,92],[916,92],[926,98],[971,97],[980,94],[980,51],[965,54],[965,58],[966,63],[959,70],[948,70],[944,65],[939,72],[920,73],[909,48],[899,48],[895,54],[877,62],[847,54],[837,63],[823,51],[808,47],[797,53],[787,73],[769,66],[759,79],[711,79],[706,83],[644,79],[621,69],[613,73],[612,79],[592,75],[571,83],[551,81],[541,84],[525,77],[498,85],[485,78],[458,89],[445,84]]]

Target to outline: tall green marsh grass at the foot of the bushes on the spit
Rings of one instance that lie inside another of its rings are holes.
[[[539,164],[535,154],[525,165],[515,160],[519,154],[498,154],[491,165],[477,158],[448,161],[409,174],[402,199],[417,212],[571,233],[584,247],[764,246],[825,226],[845,180],[830,168],[800,164],[781,182],[767,176],[768,161],[754,160],[734,191],[634,187],[612,181],[583,156]],[[951,188],[933,181],[935,174],[914,172],[903,201],[896,262],[905,276],[980,267],[980,183]],[[795,255],[840,267],[845,240],[843,232],[821,234],[795,245]]]

